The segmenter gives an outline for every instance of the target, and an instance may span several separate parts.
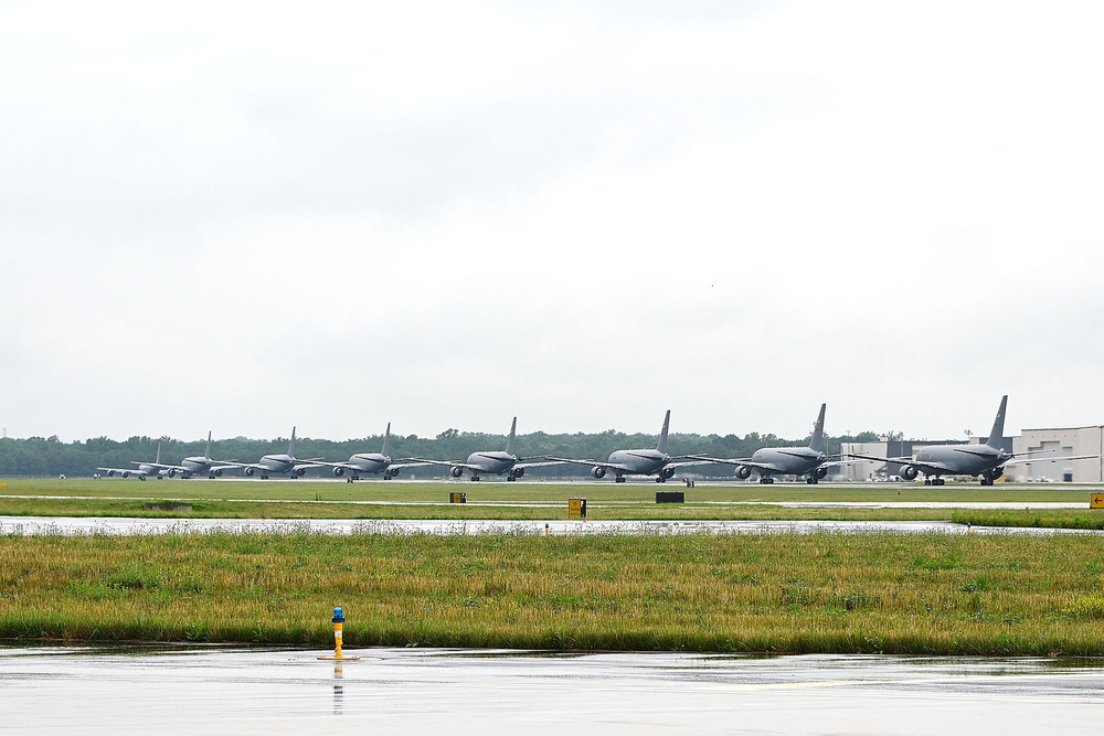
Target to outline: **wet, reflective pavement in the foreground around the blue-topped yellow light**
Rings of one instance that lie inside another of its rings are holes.
[[[1094,733],[1091,661],[371,649],[0,649],[12,733]]]

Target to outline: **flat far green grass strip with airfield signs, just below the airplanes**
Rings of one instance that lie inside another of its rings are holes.
[[[449,491],[467,493],[467,504],[445,503]],[[656,504],[656,490],[686,490],[684,504]],[[1060,486],[976,484],[931,488],[920,484],[755,484],[657,487],[591,483],[404,483],[362,481],[146,481],[121,479],[18,480],[0,489],[0,515],[227,518],[227,519],[565,519],[567,498],[588,499],[590,519],[617,520],[951,520],[989,525],[1104,527],[1104,511],[1089,511],[1085,490]],[[19,498],[41,497],[41,498]],[[146,503],[179,500],[191,512],[147,510]],[[1084,503],[1085,509],[1045,512],[952,511],[949,509],[787,509],[772,503],[976,501]],[[1030,523],[1019,523],[1026,520]]]

